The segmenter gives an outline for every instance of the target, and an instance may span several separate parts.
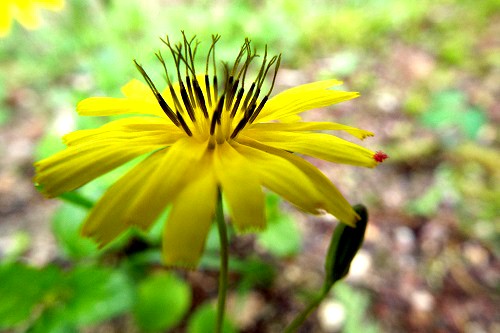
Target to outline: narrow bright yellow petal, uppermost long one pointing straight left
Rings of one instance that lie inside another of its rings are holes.
[[[149,114],[168,119],[158,103],[136,98],[90,97],[78,103],[76,111],[82,116]]]

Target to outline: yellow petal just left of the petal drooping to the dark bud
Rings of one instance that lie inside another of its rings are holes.
[[[248,160],[262,185],[309,213],[318,214],[325,209],[322,195],[295,165],[281,156],[247,146],[246,142],[241,142],[243,140],[238,141],[243,144],[236,145],[236,150]]]

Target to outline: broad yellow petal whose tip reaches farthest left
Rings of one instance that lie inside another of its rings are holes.
[[[161,148],[128,142],[80,144],[35,163],[35,183],[49,197],[74,190],[133,158]]]

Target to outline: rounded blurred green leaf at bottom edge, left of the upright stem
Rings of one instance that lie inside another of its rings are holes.
[[[173,274],[160,273],[140,283],[133,314],[142,330],[160,332],[177,325],[190,304],[189,286]]]

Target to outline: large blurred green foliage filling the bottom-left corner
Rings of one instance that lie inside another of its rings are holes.
[[[63,273],[23,264],[0,267],[0,328],[29,332],[76,332],[127,311],[132,289],[118,270],[77,267]]]

